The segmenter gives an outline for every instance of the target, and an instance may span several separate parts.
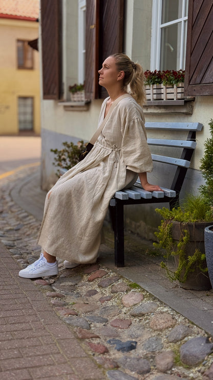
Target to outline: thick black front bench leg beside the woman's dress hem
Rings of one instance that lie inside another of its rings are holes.
[[[123,204],[116,201],[115,204],[115,266],[124,267],[124,224],[123,224]]]

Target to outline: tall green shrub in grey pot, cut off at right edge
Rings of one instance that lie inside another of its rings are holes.
[[[199,190],[205,198],[207,204],[213,210],[213,120],[208,124],[210,128],[210,137],[206,139],[204,146],[204,155],[201,159],[201,172],[205,184],[201,185]],[[213,219],[212,219],[213,221]],[[213,222],[212,222],[213,224]],[[208,267],[209,278],[213,288],[213,225],[205,228],[205,254]]]

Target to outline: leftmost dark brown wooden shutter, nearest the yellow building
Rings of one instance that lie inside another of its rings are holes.
[[[43,98],[61,96],[61,0],[41,0]]]

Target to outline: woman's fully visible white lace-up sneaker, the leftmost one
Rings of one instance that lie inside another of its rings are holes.
[[[22,269],[18,275],[24,278],[37,278],[44,276],[54,276],[58,274],[58,262],[57,260],[54,264],[47,262],[44,255],[41,253],[38,260],[33,262],[33,264],[28,265],[27,268]]]

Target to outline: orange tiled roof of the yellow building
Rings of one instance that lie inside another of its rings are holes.
[[[0,0],[0,14],[38,18],[39,0]]]

